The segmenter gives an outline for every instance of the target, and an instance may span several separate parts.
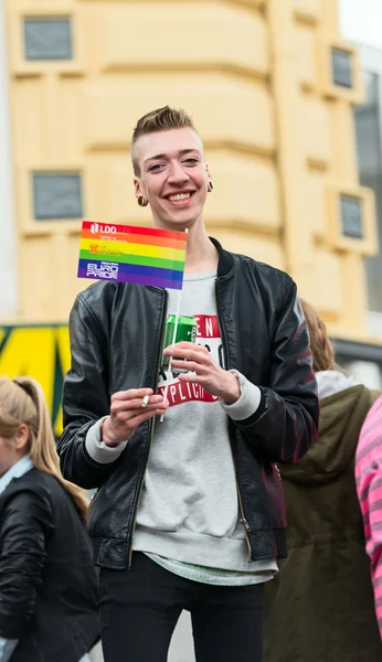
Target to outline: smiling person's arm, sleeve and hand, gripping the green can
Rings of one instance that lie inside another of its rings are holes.
[[[200,384],[219,396],[221,406],[257,455],[273,462],[290,463],[297,462],[317,438],[319,401],[307,324],[295,282],[284,300],[273,339],[267,386],[252,384],[235,370],[223,370],[205,348],[193,343],[177,343],[166,348],[165,354],[177,356],[171,362],[174,369],[182,365],[182,359],[189,361],[192,372],[180,374],[179,381]]]

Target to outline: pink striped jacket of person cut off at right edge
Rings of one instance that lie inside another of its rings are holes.
[[[356,480],[382,638],[382,396],[370,409],[361,429]]]

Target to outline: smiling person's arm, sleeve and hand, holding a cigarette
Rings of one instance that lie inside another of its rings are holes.
[[[99,488],[115,470],[128,440],[167,404],[152,388],[109,395],[108,344],[79,295],[70,319],[72,367],[64,381],[64,431],[57,445],[63,476],[85,489]],[[142,399],[148,402],[142,407]]]

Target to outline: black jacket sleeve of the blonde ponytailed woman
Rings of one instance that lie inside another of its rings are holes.
[[[0,530],[0,637],[18,640],[34,612],[54,528],[49,500],[34,491],[6,500]]]

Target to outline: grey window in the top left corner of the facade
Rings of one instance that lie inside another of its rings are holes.
[[[24,51],[25,60],[72,60],[70,19],[24,19]]]

